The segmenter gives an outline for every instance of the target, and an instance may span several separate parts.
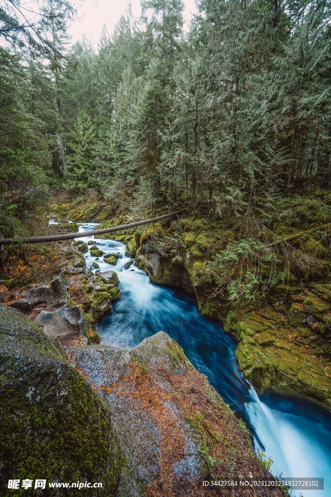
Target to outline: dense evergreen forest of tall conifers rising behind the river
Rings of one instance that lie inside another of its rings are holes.
[[[272,225],[280,194],[330,184],[330,3],[198,3],[185,32],[181,0],[142,1],[95,51],[68,1],[4,2],[2,236],[53,190]]]

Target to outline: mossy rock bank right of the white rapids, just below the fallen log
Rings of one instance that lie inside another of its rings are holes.
[[[135,263],[146,271],[150,281],[180,286],[196,296],[199,312],[225,319],[229,306],[224,307],[226,301],[217,295],[210,298],[214,283],[207,266],[216,252],[234,239],[231,230],[217,230],[205,218],[189,218],[140,229],[135,239]]]

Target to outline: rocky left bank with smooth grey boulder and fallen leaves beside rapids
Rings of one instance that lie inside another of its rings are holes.
[[[94,274],[85,269],[79,274],[61,273],[48,285],[29,285],[16,292],[9,306],[23,311],[49,336],[73,340],[86,336],[88,343],[99,343],[91,323],[111,309],[120,293],[119,279],[115,271]]]

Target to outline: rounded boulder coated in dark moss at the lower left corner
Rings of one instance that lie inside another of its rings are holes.
[[[102,482],[88,495],[115,496],[122,459],[111,416],[58,341],[0,305],[0,346],[0,495],[7,495],[8,479],[42,478]],[[74,496],[76,490],[43,495]]]

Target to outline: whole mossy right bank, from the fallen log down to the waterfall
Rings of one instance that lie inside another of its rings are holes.
[[[301,238],[295,243],[303,247]],[[136,264],[151,281],[194,293],[201,313],[225,322],[225,330],[239,342],[239,366],[258,391],[292,392],[330,409],[330,277],[316,273],[315,261],[306,286],[290,274],[291,284],[278,284],[262,308],[241,308],[217,292],[208,270],[214,255],[233,240],[233,231],[220,230],[206,219],[183,219],[142,233]]]

